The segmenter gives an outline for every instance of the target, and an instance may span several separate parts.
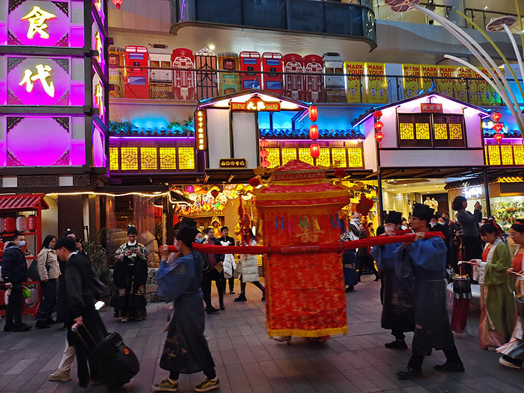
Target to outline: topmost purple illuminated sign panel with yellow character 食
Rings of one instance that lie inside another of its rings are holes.
[[[82,47],[82,22],[71,22],[71,15],[82,15],[83,1],[17,0],[4,1],[7,21],[0,20],[1,45]]]

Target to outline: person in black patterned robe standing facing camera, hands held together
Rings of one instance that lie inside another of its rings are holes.
[[[115,308],[113,316],[120,322],[143,320],[147,317],[145,306],[145,282],[147,281],[147,249],[136,241],[136,228],[127,228],[128,242],[119,246],[115,253],[117,262],[113,280],[117,293],[111,301]]]

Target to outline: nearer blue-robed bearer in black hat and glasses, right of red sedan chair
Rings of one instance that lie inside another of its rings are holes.
[[[425,355],[432,348],[443,350],[444,364],[437,364],[439,371],[464,371],[446,309],[446,244],[440,237],[424,239],[429,231],[433,209],[414,205],[409,225],[416,232],[412,242],[398,246],[394,253],[398,285],[413,288],[416,329],[412,343],[412,357],[407,367],[397,371],[400,379],[422,376]]]

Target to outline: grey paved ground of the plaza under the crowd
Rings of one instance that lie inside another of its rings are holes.
[[[249,302],[234,303],[235,295],[226,295],[226,311],[206,317],[205,332],[221,381],[217,392],[523,392],[524,371],[502,369],[497,354],[477,348],[476,315],[468,322],[471,335],[456,339],[465,373],[433,370],[434,364],[444,360],[441,352],[434,352],[425,360],[424,378],[395,378],[410,351],[384,348],[391,336],[379,326],[379,283],[372,282],[372,276],[364,276],[356,290],[347,294],[349,334],[324,344],[296,339],[286,346],[270,340],[265,333],[260,292],[250,284],[247,290]],[[150,392],[151,384],[168,374],[158,366],[166,337],[161,329],[166,325],[167,306],[152,304],[148,313],[147,320],[122,324],[113,320],[110,310],[102,311],[108,330],[122,334],[140,359],[140,373],[123,392]],[[78,387],[76,369],[68,383],[47,380],[59,363],[64,335],[54,327],[0,332],[0,392],[107,392],[101,386]],[[411,336],[407,341],[411,342]],[[202,378],[201,373],[181,376],[180,392],[190,392]]]

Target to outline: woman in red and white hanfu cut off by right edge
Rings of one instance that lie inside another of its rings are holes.
[[[515,293],[517,295],[517,320],[509,343],[497,348],[502,354],[499,363],[502,366],[520,369],[524,363],[524,220],[518,219],[509,228],[509,237],[518,245],[518,250],[511,261],[511,267],[507,269],[511,281],[514,281]],[[516,274],[513,274],[513,273]],[[521,275],[522,274],[522,275]],[[516,277],[516,279],[513,279]]]

